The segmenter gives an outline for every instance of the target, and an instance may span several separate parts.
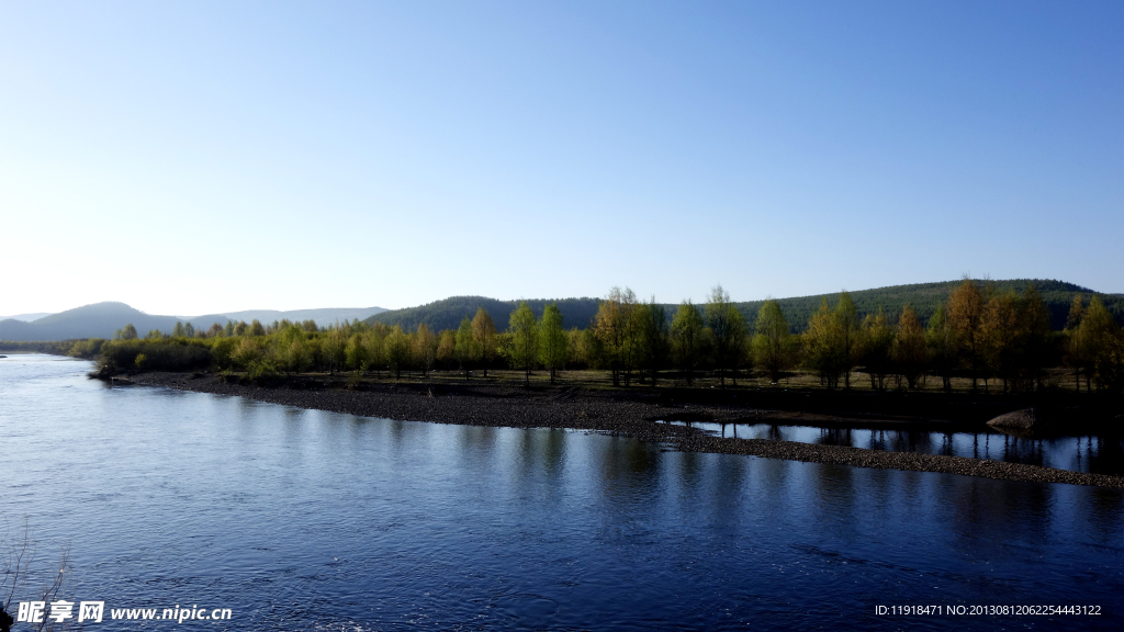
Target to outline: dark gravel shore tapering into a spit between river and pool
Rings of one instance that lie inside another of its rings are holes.
[[[677,404],[640,391],[578,388],[525,390],[484,383],[450,387],[422,383],[364,385],[346,390],[325,381],[305,380],[277,387],[254,387],[210,374],[146,372],[137,385],[236,395],[259,401],[330,410],[368,417],[444,424],[556,427],[604,432],[658,442],[676,450],[749,454],[816,463],[978,476],[1004,480],[1064,482],[1124,488],[1124,477],[1073,472],[963,457],[883,452],[861,448],[790,441],[718,437],[696,428],[660,423],[668,419],[758,423],[790,418],[773,410],[728,405]]]

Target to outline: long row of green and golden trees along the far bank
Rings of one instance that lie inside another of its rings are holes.
[[[1066,367],[1078,391],[1124,390],[1124,336],[1098,297],[1086,301],[1076,294],[1064,327],[1051,323],[1035,286],[1017,292],[972,279],[939,301],[927,323],[908,304],[898,313],[879,308],[860,317],[844,291],[833,301],[823,298],[800,333],[774,299],[747,323],[720,286],[701,305],[682,301],[670,318],[654,297],[640,300],[628,288],[613,288],[584,327],[566,328],[556,304],[536,316],[522,301],[500,326],[479,307],[443,331],[425,323],[407,331],[379,322],[318,327],[312,320],[254,320],[206,329],[178,323],[172,335],[154,329],[139,337],[127,325],[115,340],[98,343],[98,353],[123,369],[209,363],[252,378],[320,370],[397,379],[404,371],[427,376],[443,369],[471,379],[505,368],[523,372],[529,383],[537,370],[554,382],[560,371],[600,369],[618,387],[655,386],[669,377],[690,385],[710,374],[725,388],[750,374],[778,383],[806,371],[827,389],[850,389],[862,373],[873,390],[917,390],[930,380],[951,390],[952,380],[962,378],[972,389],[1005,392],[1046,388],[1049,370]],[[83,344],[76,354],[91,353],[94,343]]]

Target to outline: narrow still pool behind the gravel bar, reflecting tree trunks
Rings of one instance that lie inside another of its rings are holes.
[[[991,428],[980,432],[921,432],[900,430],[822,428],[777,424],[719,424],[714,422],[668,422],[717,436],[796,441],[824,445],[846,445],[888,452],[945,454],[969,459],[991,459],[1113,476],[1124,476],[1124,436],[1027,437]]]

